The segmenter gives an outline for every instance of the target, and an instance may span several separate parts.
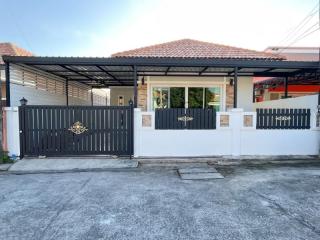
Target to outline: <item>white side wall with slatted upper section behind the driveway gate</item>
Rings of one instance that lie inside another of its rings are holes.
[[[11,106],[20,106],[26,98],[29,105],[66,105],[65,79],[30,67],[10,65]],[[107,92],[94,89],[93,104],[106,105]],[[91,87],[77,82],[68,84],[69,105],[91,105]]]

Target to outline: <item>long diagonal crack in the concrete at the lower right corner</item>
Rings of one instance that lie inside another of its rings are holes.
[[[268,201],[269,203],[271,203],[274,206],[274,209],[280,211],[281,213],[283,213],[287,217],[295,220],[299,224],[303,225],[304,227],[310,229],[312,232],[314,232],[320,236],[320,229],[317,229],[315,226],[313,226],[311,223],[309,223],[306,219],[304,219],[301,215],[295,216],[295,215],[291,214],[288,210],[286,210],[284,207],[282,207],[281,204],[277,203],[275,200],[265,196],[262,193],[256,192],[252,189],[249,189],[249,191],[255,193],[259,197],[261,197],[261,198],[265,199],[266,201]]]

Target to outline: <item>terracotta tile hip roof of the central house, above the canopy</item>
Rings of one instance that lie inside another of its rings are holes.
[[[221,44],[182,39],[129,51],[118,52],[112,57],[158,57],[158,58],[226,58],[284,60],[284,57],[249,49]]]

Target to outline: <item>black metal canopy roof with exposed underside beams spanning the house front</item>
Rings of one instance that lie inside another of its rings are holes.
[[[137,76],[233,76],[235,69],[239,77],[320,75],[319,62],[281,60],[24,56],[3,56],[3,60],[97,88],[134,86],[135,69]]]

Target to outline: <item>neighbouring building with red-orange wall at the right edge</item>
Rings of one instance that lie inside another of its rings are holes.
[[[287,61],[319,62],[319,47],[268,47],[265,52],[281,55]],[[277,100],[285,97],[285,86],[282,79],[254,78],[256,101]],[[288,97],[312,95],[320,92],[320,78],[314,80],[306,77],[290,79]]]

